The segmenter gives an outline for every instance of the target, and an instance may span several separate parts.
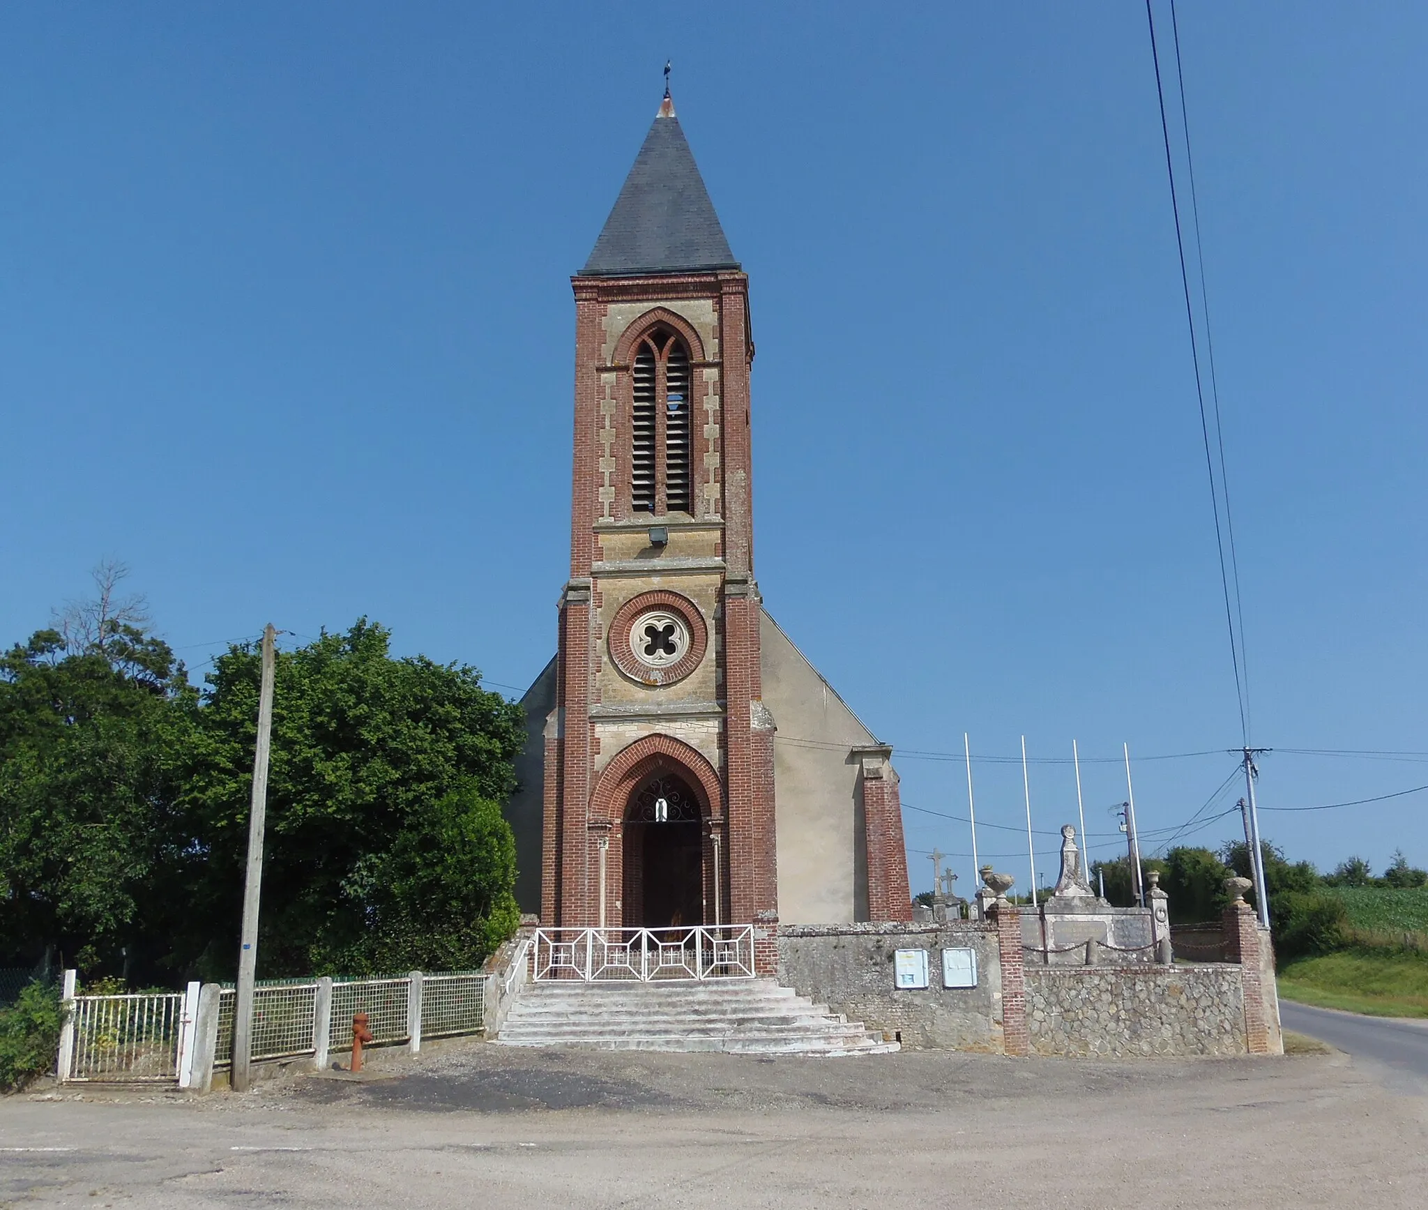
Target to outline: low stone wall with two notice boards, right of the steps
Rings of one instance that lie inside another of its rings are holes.
[[[975,987],[942,987],[942,949],[977,953]],[[927,950],[925,990],[894,987],[897,950]],[[990,924],[785,924],[778,981],[908,1049],[1002,1051],[1001,961]]]

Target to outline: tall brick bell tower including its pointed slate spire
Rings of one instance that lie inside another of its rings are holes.
[[[777,926],[748,277],[665,93],[575,296],[541,920]],[[771,953],[771,943],[765,947]]]

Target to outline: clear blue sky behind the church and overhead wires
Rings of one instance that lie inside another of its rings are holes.
[[[1428,751],[1428,10],[1180,23],[1261,803],[1421,786],[1425,756],[1285,750]],[[765,603],[908,753],[914,889],[921,850],[968,843],[925,814],[965,814],[961,764],[910,753],[962,731],[1017,757],[975,766],[1007,827],[1027,736],[1047,833],[1075,819],[1048,763],[1072,739],[1104,759],[1092,833],[1122,743],[1210,753],[1137,760],[1168,836],[1240,724],[1132,0],[7,6],[0,639],[110,556],[196,673],[267,620],[366,614],[401,651],[534,677],[565,574],[568,277],[665,57],[751,274]],[[1428,864],[1425,810],[1264,831]],[[1024,834],[980,847],[1025,884]]]

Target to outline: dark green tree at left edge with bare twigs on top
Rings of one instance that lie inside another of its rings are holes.
[[[47,949],[81,967],[133,969],[156,874],[184,843],[173,811],[183,664],[120,601],[99,596],[0,656],[0,950]]]

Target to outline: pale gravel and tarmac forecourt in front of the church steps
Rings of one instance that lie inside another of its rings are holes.
[[[378,1053],[246,1096],[0,1103],[0,1204],[1278,1207],[1428,1201],[1428,1097],[1345,1056]]]

